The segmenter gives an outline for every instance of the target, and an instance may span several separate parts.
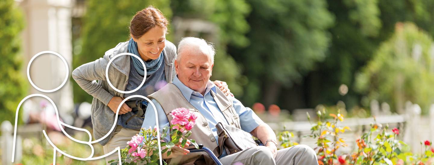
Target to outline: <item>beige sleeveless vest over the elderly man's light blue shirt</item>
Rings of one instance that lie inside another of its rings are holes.
[[[220,108],[220,111],[222,111],[224,117],[226,118],[227,122],[230,125],[241,129],[240,118],[238,117],[235,108],[233,108],[232,106],[232,98],[224,95],[224,93],[221,92],[219,89],[217,89],[216,91],[217,93],[214,93],[213,90],[211,90],[210,92],[218,107]],[[148,97],[154,98],[158,101],[158,103],[160,103],[169,121],[173,119],[173,117],[169,113],[176,108],[187,108],[190,109],[190,111],[197,112],[198,117],[196,119],[196,125],[191,129],[192,133],[189,139],[194,139],[198,144],[203,144],[205,147],[211,149],[214,152],[214,155],[219,154],[219,151],[217,149],[217,140],[211,132],[206,118],[196,108],[194,108],[194,106],[191,105],[187,101],[187,99],[185,99],[184,95],[182,95],[181,91],[178,89],[177,86],[172,83],[168,83],[159,91],[149,95]],[[172,124],[170,122],[169,124],[170,127],[172,127]],[[210,159],[208,155],[203,152],[194,152],[189,153],[185,156],[173,158],[171,160],[168,160],[168,164],[193,164],[193,162],[201,158],[202,155],[206,160],[206,164],[213,164],[212,162],[209,162]]]

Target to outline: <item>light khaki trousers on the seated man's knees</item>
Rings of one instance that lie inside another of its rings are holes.
[[[223,165],[318,165],[315,151],[306,145],[279,149],[276,159],[266,146],[256,146],[227,155],[220,162]]]

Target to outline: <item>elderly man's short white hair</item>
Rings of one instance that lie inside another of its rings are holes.
[[[202,38],[196,38],[196,37],[182,38],[178,44],[178,57],[176,58],[178,62],[181,59],[181,52],[185,50],[201,51],[202,53],[210,56],[211,62],[214,63],[214,55],[215,55],[214,44],[208,42],[207,40],[204,40]]]

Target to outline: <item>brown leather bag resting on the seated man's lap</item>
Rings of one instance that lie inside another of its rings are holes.
[[[240,152],[244,149],[248,149],[254,146],[258,146],[253,140],[252,135],[243,131],[237,127],[231,125],[222,124],[221,122],[216,124],[218,134],[218,148],[219,155],[226,150],[227,155]],[[232,134],[229,134],[232,133]]]

